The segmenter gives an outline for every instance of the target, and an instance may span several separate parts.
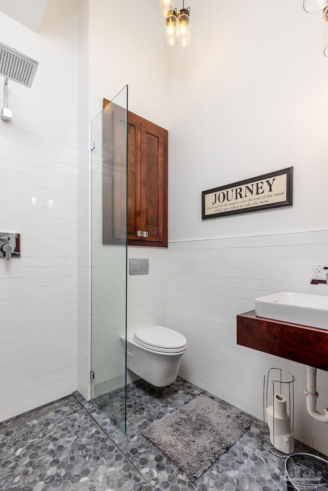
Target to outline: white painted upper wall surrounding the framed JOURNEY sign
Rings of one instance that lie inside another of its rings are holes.
[[[201,4],[201,5],[200,5]],[[300,0],[190,0],[170,52],[169,240],[326,228],[328,63]],[[294,166],[294,206],[201,221],[201,191]]]

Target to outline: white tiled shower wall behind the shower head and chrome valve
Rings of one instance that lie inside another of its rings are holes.
[[[39,62],[0,121],[0,229],[22,240],[0,258],[0,420],[76,390],[76,5],[52,3],[38,34],[0,13],[1,41]]]

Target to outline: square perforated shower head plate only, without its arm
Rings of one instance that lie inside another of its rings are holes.
[[[0,42],[0,75],[31,87],[38,62]]]

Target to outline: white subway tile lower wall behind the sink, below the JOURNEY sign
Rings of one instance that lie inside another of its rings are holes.
[[[328,295],[310,285],[312,264],[328,262],[328,232],[301,232],[169,244],[167,326],[186,336],[179,374],[260,419],[263,377],[293,373],[295,437],[328,455],[327,425],[306,411],[306,367],[236,344],[236,315],[279,291]],[[318,347],[320,349],[320,347]],[[327,372],[318,370],[318,411],[328,406]]]

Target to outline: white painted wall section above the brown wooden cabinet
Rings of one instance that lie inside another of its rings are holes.
[[[94,116],[103,97],[129,86],[129,110],[168,125],[169,49],[158,35],[163,18],[147,0],[89,1],[90,101]],[[109,29],[110,26],[110,29]]]

